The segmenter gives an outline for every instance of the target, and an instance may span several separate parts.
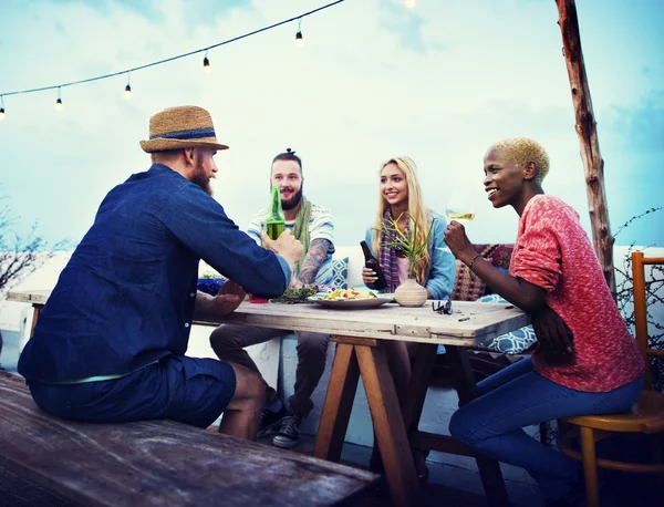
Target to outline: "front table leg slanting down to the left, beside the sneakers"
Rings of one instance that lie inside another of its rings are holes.
[[[352,344],[336,343],[330,384],[315,436],[313,455],[339,462],[357,391],[360,370]]]

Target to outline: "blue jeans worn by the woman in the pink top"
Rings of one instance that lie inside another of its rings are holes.
[[[477,384],[481,396],[460,407],[449,433],[478,453],[526,468],[547,500],[570,492],[580,464],[530,437],[531,424],[574,415],[627,411],[643,389],[643,376],[606,393],[564,387],[532,371],[523,359]]]

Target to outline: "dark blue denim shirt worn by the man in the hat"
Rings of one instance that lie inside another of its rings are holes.
[[[132,372],[184,355],[198,262],[248,292],[278,297],[291,271],[196,184],[155,164],[113,188],[63,269],[19,373],[62,382]]]

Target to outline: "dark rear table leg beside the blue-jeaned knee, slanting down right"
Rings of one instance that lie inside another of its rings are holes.
[[[459,402],[461,405],[465,405],[479,396],[470,362],[468,361],[468,354],[461,346],[445,345],[445,349],[449,366],[454,374]],[[509,506],[509,497],[507,496],[507,489],[505,488],[498,462],[484,456],[477,456],[475,459],[477,461],[477,469],[479,470],[489,506]]]

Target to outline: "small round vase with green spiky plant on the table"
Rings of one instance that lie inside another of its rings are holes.
[[[403,214],[402,214],[403,215]],[[398,228],[397,218],[391,218],[388,224],[381,224],[380,232],[383,235],[382,245],[395,247],[406,259],[408,259],[408,278],[394,291],[395,301],[402,307],[422,307],[426,301],[426,289],[417,282],[415,277],[415,265],[425,256],[428,249],[429,238],[434,229],[435,218],[429,224],[424,237],[418,234],[417,223],[408,213],[411,227],[402,231]]]

